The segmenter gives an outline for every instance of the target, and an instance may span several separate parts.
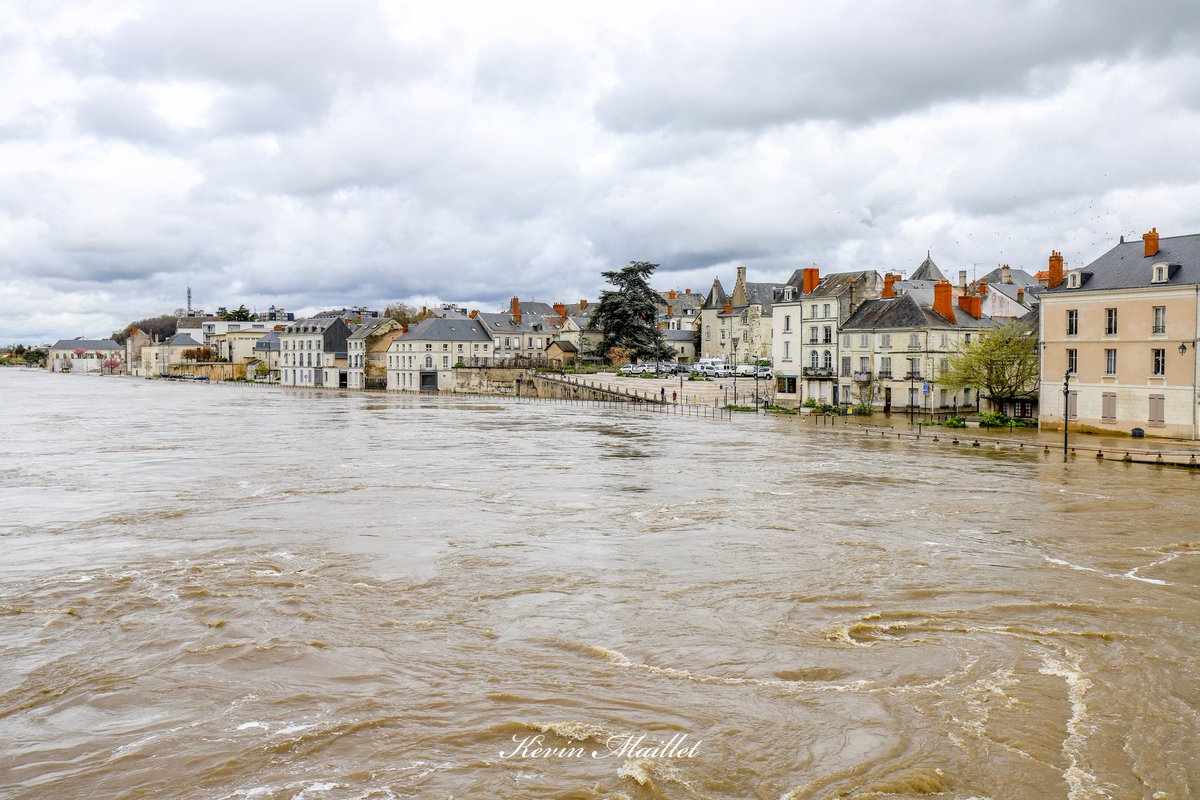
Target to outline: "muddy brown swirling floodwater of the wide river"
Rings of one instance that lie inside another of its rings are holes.
[[[1200,796],[1200,475],[0,369],[0,796]]]

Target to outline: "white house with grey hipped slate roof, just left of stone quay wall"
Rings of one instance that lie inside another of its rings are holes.
[[[488,363],[492,336],[470,317],[431,317],[388,348],[390,391],[454,391],[455,366]]]

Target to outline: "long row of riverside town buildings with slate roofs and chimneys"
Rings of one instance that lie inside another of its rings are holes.
[[[796,270],[784,283],[737,269],[708,293],[658,293],[658,326],[678,363],[769,365],[770,399],[881,411],[996,410],[1072,428],[1200,438],[1200,234],[1123,237],[1069,267],[1051,251],[1036,273],[1000,266],[967,279],[926,253],[910,275]],[[188,311],[169,338],[133,329],[114,339],[62,339],[47,368],[142,377],[196,375],[283,386],[456,391],[458,371],[570,368],[595,361],[596,301],[512,297],[482,312],[448,303],[403,324],[365,307],[294,319],[278,308],[233,321]],[[1040,381],[1019,397],[938,383],[973,337],[1027,325]],[[1064,391],[1066,385],[1066,391]]]

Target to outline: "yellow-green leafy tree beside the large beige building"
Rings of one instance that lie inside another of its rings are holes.
[[[1038,387],[1038,349],[1033,329],[1019,321],[998,325],[971,344],[959,344],[938,383],[979,389],[992,399],[1028,397]]]

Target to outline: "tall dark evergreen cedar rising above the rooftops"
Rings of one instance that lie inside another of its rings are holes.
[[[616,289],[600,293],[600,303],[592,312],[588,327],[604,331],[596,355],[608,357],[613,348],[625,348],[638,359],[665,359],[671,355],[658,326],[660,297],[650,288],[649,277],[658,264],[630,261],[629,266],[601,272]]]

